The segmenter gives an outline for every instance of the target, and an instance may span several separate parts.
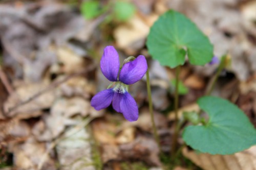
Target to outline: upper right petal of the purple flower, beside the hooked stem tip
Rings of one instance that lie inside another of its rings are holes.
[[[140,55],[135,60],[127,62],[123,65],[119,81],[124,84],[134,84],[145,75],[147,70],[146,59]]]

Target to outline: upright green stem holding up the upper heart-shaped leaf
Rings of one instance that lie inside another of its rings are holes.
[[[172,147],[170,148],[171,157],[175,157],[178,134],[179,134],[179,129],[180,129],[178,126],[179,75],[180,75],[180,65],[177,66],[176,71],[175,71],[175,96],[174,96],[175,119],[174,119],[174,134],[172,137]]]

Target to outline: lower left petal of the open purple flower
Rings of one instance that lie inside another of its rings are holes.
[[[96,110],[104,109],[111,104],[113,95],[113,88],[100,91],[93,96],[91,100],[91,106],[94,107]]]

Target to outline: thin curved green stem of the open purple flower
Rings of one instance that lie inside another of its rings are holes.
[[[158,136],[158,133],[157,133],[157,128],[156,128],[156,124],[155,124],[155,120],[154,120],[154,114],[153,114],[153,104],[152,104],[152,95],[151,95],[151,87],[150,87],[150,74],[148,73],[148,70],[146,71],[146,87],[147,87],[148,107],[150,109],[153,134],[154,134],[155,140],[157,142],[159,152],[161,153],[160,140],[159,140],[159,136]]]

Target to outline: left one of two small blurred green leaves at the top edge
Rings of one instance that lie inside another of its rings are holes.
[[[86,1],[81,4],[81,13],[87,19],[93,19],[99,16],[103,10],[98,1]]]

